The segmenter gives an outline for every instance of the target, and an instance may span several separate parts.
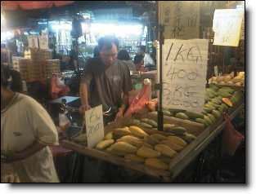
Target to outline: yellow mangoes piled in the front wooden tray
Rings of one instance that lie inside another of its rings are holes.
[[[191,139],[195,139],[195,136],[192,136]],[[168,170],[173,157],[177,156],[191,139],[171,133],[147,134],[138,126],[129,126],[106,134],[105,139],[97,143],[96,149],[124,157],[126,161],[134,161],[158,170]]]

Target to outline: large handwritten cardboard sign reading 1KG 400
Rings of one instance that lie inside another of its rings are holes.
[[[209,41],[164,40],[163,107],[202,112]]]

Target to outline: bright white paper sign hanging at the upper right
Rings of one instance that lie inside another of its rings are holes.
[[[243,15],[243,9],[215,10],[213,16],[213,45],[238,46]]]

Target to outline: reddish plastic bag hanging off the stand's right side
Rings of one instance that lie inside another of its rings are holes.
[[[227,114],[224,114],[223,117],[226,121],[226,128],[222,137],[222,154],[233,156],[240,143],[245,140],[245,136],[234,128],[231,118]]]

